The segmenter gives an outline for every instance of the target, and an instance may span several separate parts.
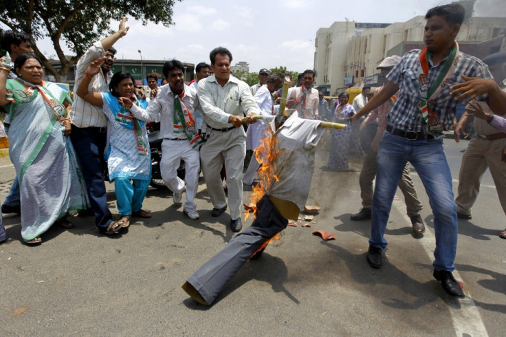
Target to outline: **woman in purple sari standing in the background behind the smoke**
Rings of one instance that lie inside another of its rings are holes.
[[[349,94],[344,91],[339,95],[340,105],[334,112],[334,122],[347,124],[340,130],[332,130],[329,164],[332,171],[348,171],[348,155],[351,141],[351,117],[355,115],[355,109],[349,104]]]

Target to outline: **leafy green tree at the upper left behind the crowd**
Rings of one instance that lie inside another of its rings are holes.
[[[129,16],[141,20],[173,24],[173,6],[182,0],[0,0],[0,22],[11,30],[25,32],[33,42],[34,52],[41,58],[46,69],[56,80],[67,77],[70,67],[75,65],[94,41],[100,40],[110,30],[111,20],[120,21]],[[37,46],[37,41],[48,36],[60,60],[56,69]],[[75,53],[67,58],[61,43]]]

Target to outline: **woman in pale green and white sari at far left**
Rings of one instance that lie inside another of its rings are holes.
[[[67,212],[89,203],[67,137],[69,91],[42,80],[42,63],[35,55],[19,55],[14,70],[19,77],[7,80],[10,67],[0,66],[0,105],[10,117],[9,155],[21,191],[21,235],[36,244],[52,224],[72,228]]]

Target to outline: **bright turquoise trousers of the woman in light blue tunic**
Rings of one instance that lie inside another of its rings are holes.
[[[131,215],[142,208],[142,202],[148,192],[149,180],[114,178],[116,202],[120,215]]]

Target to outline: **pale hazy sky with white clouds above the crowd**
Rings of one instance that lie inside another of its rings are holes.
[[[284,66],[294,72],[314,67],[314,39],[319,28],[335,21],[394,23],[425,15],[452,0],[183,0],[174,6],[175,25],[129,18],[130,30],[114,47],[117,58],[210,63],[218,46],[232,52],[232,65],[250,64],[250,72]],[[477,17],[506,17],[505,0],[477,0]],[[117,29],[118,23],[111,23]],[[41,44],[54,56],[50,42]],[[38,43],[39,45],[39,43]],[[65,43],[62,43],[65,46]],[[141,53],[138,52],[141,51]],[[65,51],[66,54],[72,52]]]

